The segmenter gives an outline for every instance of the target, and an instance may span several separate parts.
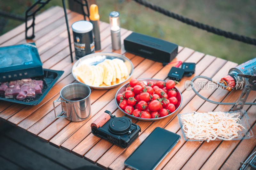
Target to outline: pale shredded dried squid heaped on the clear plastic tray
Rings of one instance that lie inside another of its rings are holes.
[[[190,113],[180,116],[182,129],[189,139],[196,140],[231,140],[238,132],[245,129],[238,113],[208,112]]]

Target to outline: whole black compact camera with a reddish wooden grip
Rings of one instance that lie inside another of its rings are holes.
[[[122,148],[127,148],[139,136],[140,126],[128,117],[116,117],[106,110],[92,124],[92,134],[102,137]]]

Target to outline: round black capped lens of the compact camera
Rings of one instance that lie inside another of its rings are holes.
[[[116,134],[122,134],[127,132],[131,127],[129,120],[124,117],[116,117],[109,122],[108,128],[111,132]]]

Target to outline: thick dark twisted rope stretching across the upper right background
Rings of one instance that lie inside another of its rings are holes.
[[[148,7],[150,9],[154,10],[154,11],[160,12],[160,13],[168,16],[168,17],[172,17],[172,18],[177,19],[177,20],[179,20],[183,23],[186,23],[188,25],[195,26],[197,28],[206,30],[208,32],[215,33],[217,35],[222,35],[226,38],[230,38],[230,39],[241,41],[241,42],[244,42],[244,43],[256,45],[256,39],[246,37],[246,36],[243,36],[243,35],[239,35],[239,34],[236,34],[236,33],[223,31],[219,28],[215,28],[213,26],[209,26],[209,25],[199,23],[197,21],[194,21],[193,19],[189,19],[189,18],[183,17],[181,15],[175,14],[171,11],[165,10],[164,8],[161,8],[160,6],[152,4],[151,2],[148,2],[146,0],[134,0],[134,1],[141,4],[141,5],[144,5],[144,6]]]

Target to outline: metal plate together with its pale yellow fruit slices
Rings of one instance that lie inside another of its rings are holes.
[[[114,88],[128,80],[132,62],[124,55],[98,52],[86,55],[72,66],[72,75],[80,83],[94,89]]]

